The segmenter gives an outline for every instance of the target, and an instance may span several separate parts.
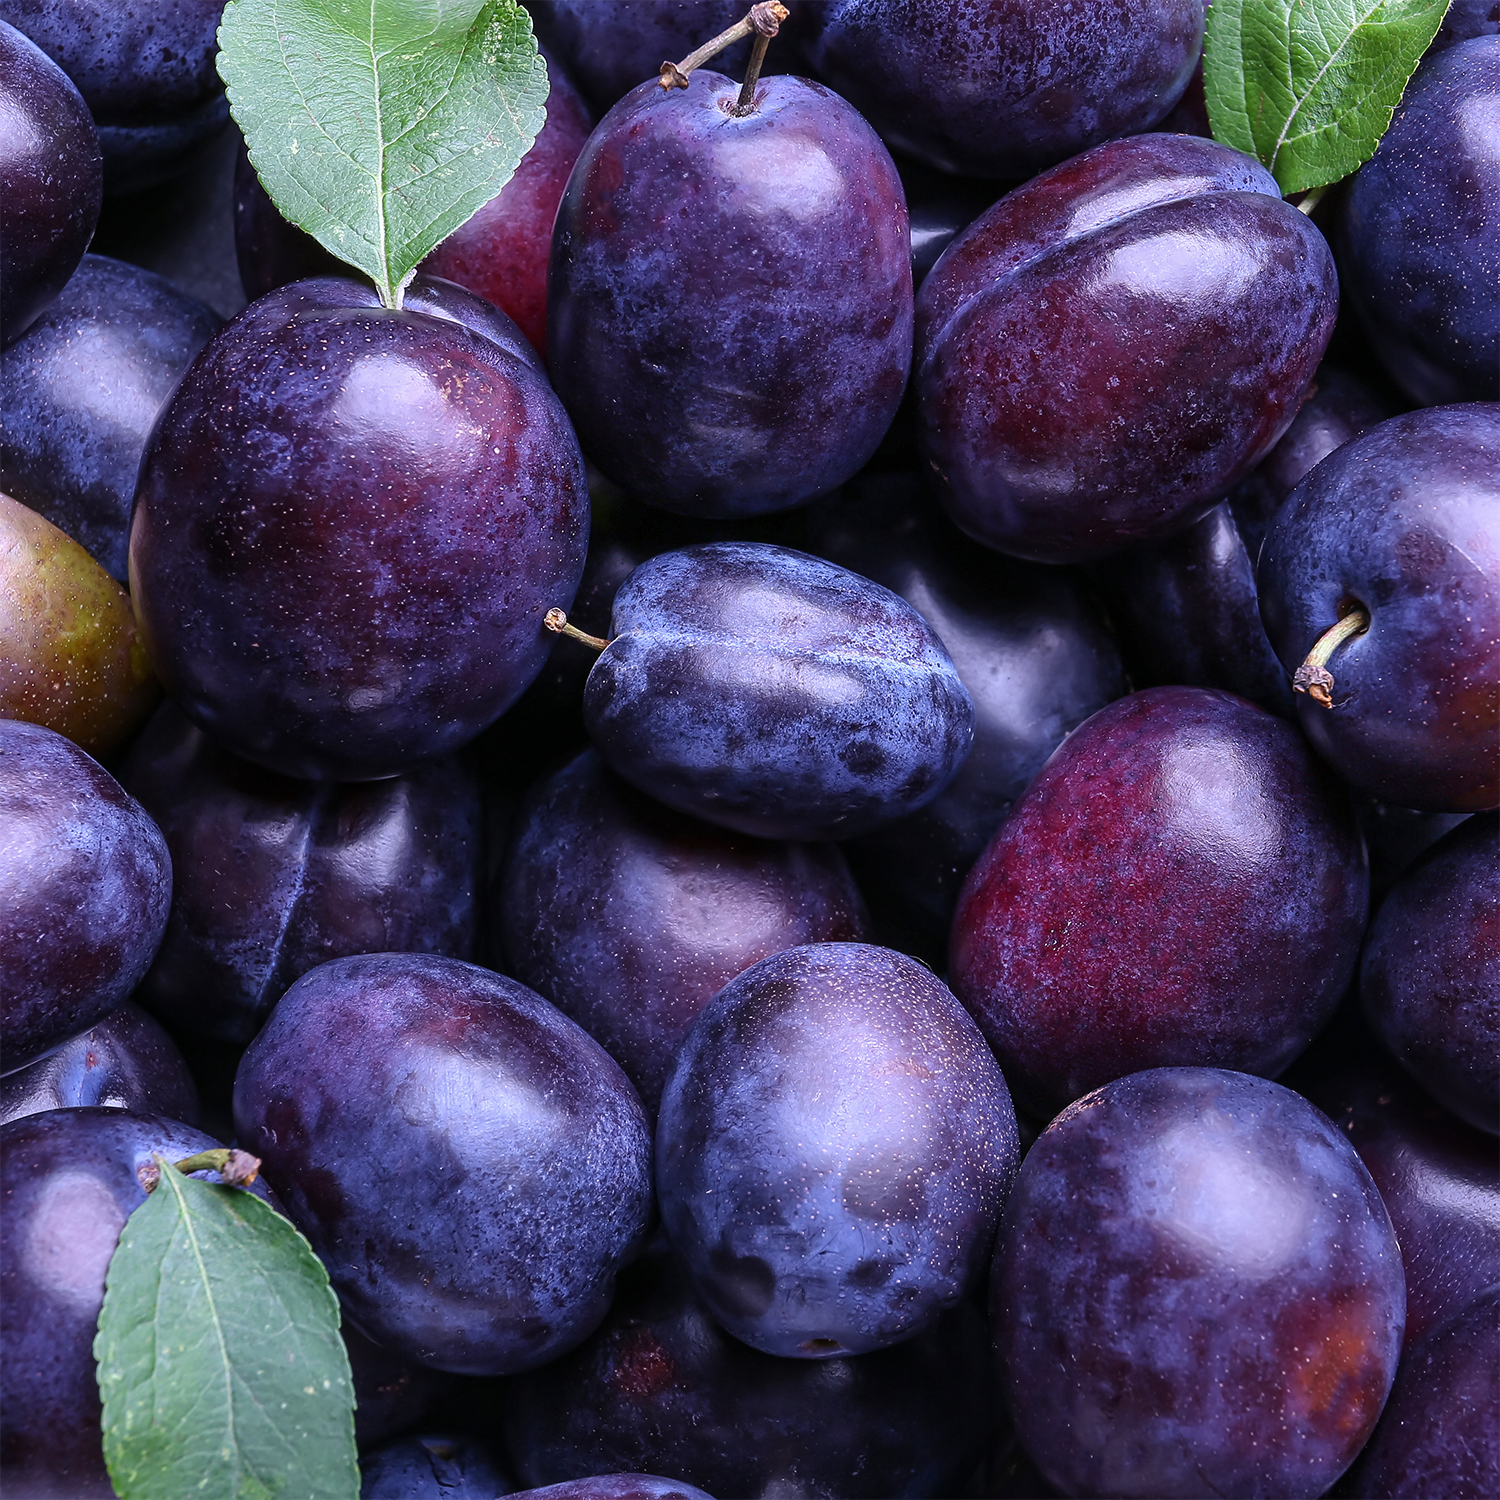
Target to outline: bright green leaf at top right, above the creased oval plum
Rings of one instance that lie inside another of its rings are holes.
[[[1214,138],[1284,194],[1370,160],[1448,0],[1214,0],[1203,92]]]

